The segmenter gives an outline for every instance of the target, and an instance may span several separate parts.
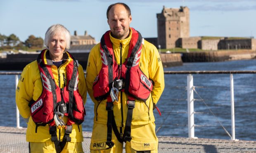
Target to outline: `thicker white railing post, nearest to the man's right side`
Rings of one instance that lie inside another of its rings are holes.
[[[187,121],[188,121],[188,137],[194,137],[194,91],[193,76],[187,76]]]

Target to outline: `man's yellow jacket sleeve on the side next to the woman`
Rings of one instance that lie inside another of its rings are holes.
[[[93,90],[92,90],[92,85],[94,82],[95,77],[98,74],[98,71],[100,70],[101,67],[97,67],[97,58],[100,58],[99,53],[100,52],[100,44],[97,44],[92,48],[90,51],[89,57],[88,57],[88,63],[86,67],[86,84],[87,84],[87,90],[88,94],[90,95],[91,99],[93,102],[97,102],[95,98],[93,97]],[[100,65],[101,65],[101,60],[100,60]],[[99,70],[98,70],[99,69]]]

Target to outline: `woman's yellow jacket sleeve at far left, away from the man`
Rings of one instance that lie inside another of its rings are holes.
[[[30,108],[28,103],[32,100],[34,89],[32,72],[34,72],[34,70],[31,70],[31,64],[26,65],[21,73],[16,89],[16,104],[19,109],[19,113],[23,118],[30,117]]]

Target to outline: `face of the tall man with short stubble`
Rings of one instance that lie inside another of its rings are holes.
[[[128,14],[123,5],[114,5],[109,10],[108,24],[113,37],[117,39],[126,39],[129,35],[129,27],[132,16]]]

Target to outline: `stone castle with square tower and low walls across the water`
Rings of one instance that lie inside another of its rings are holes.
[[[256,51],[256,39],[245,37],[190,37],[188,7],[166,8],[156,14],[157,38],[145,38],[158,48],[220,50],[249,49]]]

